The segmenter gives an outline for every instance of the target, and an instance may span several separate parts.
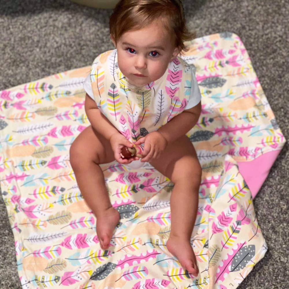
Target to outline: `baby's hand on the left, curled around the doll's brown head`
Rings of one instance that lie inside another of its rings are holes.
[[[123,159],[121,157],[121,149],[123,147],[133,147],[134,145],[120,133],[115,133],[110,137],[110,145],[114,152],[114,158],[121,164],[129,164],[132,161],[139,159],[136,156],[133,156],[129,159]]]

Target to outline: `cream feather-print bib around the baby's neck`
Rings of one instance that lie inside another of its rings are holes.
[[[95,59],[90,80],[97,107],[127,140],[135,142],[186,108],[192,68],[176,57],[160,79],[136,87],[119,70],[115,49]]]

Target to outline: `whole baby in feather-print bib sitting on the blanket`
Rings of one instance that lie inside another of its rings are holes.
[[[110,18],[115,50],[99,55],[87,77],[85,111],[90,126],[73,142],[70,161],[77,184],[97,218],[102,249],[110,245],[120,215],[108,196],[99,164],[150,164],[175,184],[167,249],[198,275],[190,237],[198,208],[201,167],[186,133],[201,112],[192,67],[177,57],[191,38],[180,0],[121,0]],[[142,158],[121,157],[142,145]]]

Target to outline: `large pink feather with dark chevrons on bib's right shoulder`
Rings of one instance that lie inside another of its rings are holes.
[[[175,58],[168,68],[168,76],[166,78],[168,82],[165,87],[166,93],[171,98],[173,98],[176,92],[179,90],[182,76],[183,72],[180,69],[180,62],[177,58]]]

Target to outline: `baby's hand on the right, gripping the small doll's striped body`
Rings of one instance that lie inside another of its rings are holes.
[[[146,136],[138,139],[135,145],[142,143],[144,143],[142,162],[149,162],[152,159],[159,158],[168,144],[164,136],[158,131],[150,132]]]

